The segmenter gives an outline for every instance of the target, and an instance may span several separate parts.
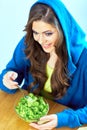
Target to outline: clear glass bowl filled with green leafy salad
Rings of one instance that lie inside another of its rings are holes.
[[[47,115],[48,111],[47,101],[42,96],[35,96],[33,93],[21,97],[15,103],[15,112],[28,123],[38,122],[42,116]]]

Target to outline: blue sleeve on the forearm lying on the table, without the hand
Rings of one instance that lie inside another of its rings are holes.
[[[65,109],[57,113],[59,127],[75,128],[87,124],[87,106],[78,110]]]

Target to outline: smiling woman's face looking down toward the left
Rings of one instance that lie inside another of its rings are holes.
[[[34,21],[32,24],[34,40],[37,41],[46,53],[55,51],[54,45],[58,42],[58,30],[55,26],[43,21]]]

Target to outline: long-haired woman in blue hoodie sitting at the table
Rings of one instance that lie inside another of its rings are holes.
[[[38,0],[30,9],[26,35],[0,76],[0,87],[41,94],[70,109],[42,117],[40,129],[87,124],[87,43],[85,33],[60,0]]]

